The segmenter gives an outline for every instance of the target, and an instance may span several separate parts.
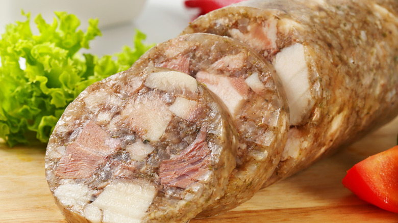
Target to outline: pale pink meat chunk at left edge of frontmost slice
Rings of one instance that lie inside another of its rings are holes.
[[[101,127],[89,122],[75,142],[65,149],[56,174],[61,178],[89,178],[106,157],[120,148],[120,141],[111,138]]]

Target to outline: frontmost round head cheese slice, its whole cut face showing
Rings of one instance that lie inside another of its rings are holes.
[[[129,69],[96,82],[49,140],[48,185],[69,222],[186,222],[225,190],[238,136],[193,77]]]

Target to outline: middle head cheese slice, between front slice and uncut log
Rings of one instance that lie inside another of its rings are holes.
[[[148,66],[195,77],[226,105],[238,129],[237,166],[227,190],[200,216],[222,213],[250,199],[275,170],[287,137],[286,98],[272,66],[245,45],[210,34],[160,43],[133,65]]]

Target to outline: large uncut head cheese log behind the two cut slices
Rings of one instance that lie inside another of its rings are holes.
[[[269,185],[375,130],[398,112],[398,4],[247,1],[208,13],[183,32],[239,39],[275,66],[290,131]]]

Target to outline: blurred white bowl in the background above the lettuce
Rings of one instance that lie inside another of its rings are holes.
[[[85,30],[89,18],[98,18],[100,28],[134,20],[142,11],[145,0],[0,0],[0,34],[5,26],[24,21],[21,10],[31,12],[33,22],[39,13],[47,23],[52,23],[55,11],[75,14]],[[33,23],[31,23],[33,25]]]

